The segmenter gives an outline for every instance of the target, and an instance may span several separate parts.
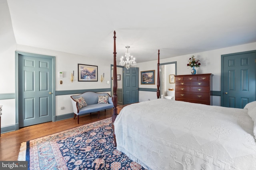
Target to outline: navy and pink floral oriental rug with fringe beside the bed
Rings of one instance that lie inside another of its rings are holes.
[[[145,170],[116,150],[113,141],[107,118],[27,141],[24,150],[30,170]]]

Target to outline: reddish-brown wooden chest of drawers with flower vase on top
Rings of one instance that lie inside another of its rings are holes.
[[[175,100],[212,105],[213,74],[175,76]]]

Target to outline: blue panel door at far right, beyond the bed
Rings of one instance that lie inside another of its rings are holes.
[[[244,108],[247,103],[256,99],[256,51],[221,57],[221,106]]]

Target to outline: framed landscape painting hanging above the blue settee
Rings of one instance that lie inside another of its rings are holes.
[[[98,66],[78,64],[78,81],[79,82],[97,82]]]

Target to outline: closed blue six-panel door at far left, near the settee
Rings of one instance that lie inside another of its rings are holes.
[[[19,127],[53,120],[52,57],[18,54]]]

